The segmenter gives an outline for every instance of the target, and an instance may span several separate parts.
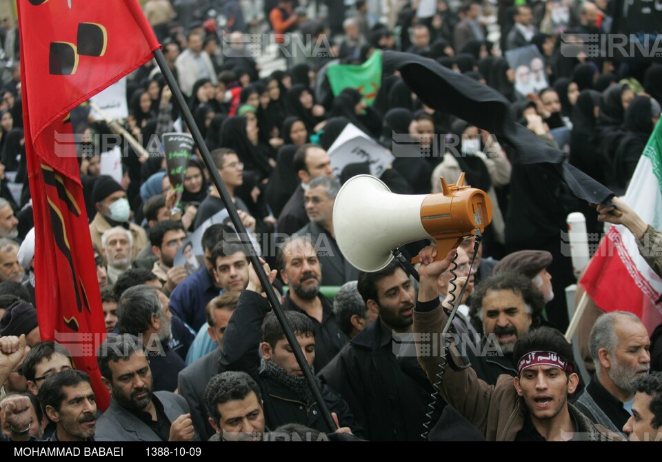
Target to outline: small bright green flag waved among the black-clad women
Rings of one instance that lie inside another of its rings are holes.
[[[381,87],[381,50],[375,50],[361,66],[338,64],[327,71],[333,96],[337,97],[345,88],[356,88],[363,100],[372,106]]]

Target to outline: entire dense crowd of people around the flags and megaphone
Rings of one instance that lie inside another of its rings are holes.
[[[619,217],[596,211],[539,165],[511,162],[512,147],[426,105],[399,72],[381,75],[370,104],[357,88],[334,96],[326,74],[329,63],[361,65],[389,50],[437,61],[500,92],[514,120],[623,194],[661,113],[662,66],[589,57],[560,38],[612,32],[615,4],[146,0],[210,167],[252,244],[228,219],[212,219],[226,204],[199,152],[177,197],[159,137],[188,128],[153,61],[127,79],[129,114],[119,123],[143,150],[127,148],[121,181],[102,174],[113,124],[92,121],[85,104],[72,111],[108,332],[95,352],[112,397],[103,414],[72,352],[41,341],[33,228],[41,217],[32,216],[26,168],[18,31],[4,21],[3,53],[14,64],[0,101],[1,438],[662,439],[662,325],[648,332],[628,312],[599,317],[583,345],[595,371],[588,383],[560,333],[565,287],[576,282],[561,250],[570,212],[585,214],[594,243],[603,221],[625,225],[641,249],[659,248],[661,233],[618,198]],[[245,40],[256,34],[274,39],[283,70],[265,72]],[[530,66],[508,59],[528,46]],[[534,79],[545,86],[535,90]],[[468,237],[437,261],[428,241],[404,245],[405,257],[421,260],[420,283],[395,261],[378,272],[355,268],[336,241],[334,201],[343,183],[371,170],[365,159],[334,170],[332,146],[348,126],[394,154],[381,174],[392,192],[439,192],[440,177],[451,183],[463,172],[488,193],[493,219],[482,239]],[[428,155],[399,157],[396,138]],[[459,144],[432,149],[448,139]],[[325,406],[250,265],[256,249]],[[659,255],[644,257],[659,276]],[[439,333],[455,303],[460,341],[447,349]]]

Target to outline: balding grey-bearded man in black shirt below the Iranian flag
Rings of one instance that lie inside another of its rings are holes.
[[[636,379],[648,374],[650,339],[636,314],[614,311],[595,321],[588,341],[595,375],[575,405],[612,432],[630,419]]]

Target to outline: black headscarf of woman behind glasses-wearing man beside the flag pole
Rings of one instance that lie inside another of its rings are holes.
[[[260,179],[270,174],[271,165],[267,157],[248,139],[245,117],[234,116],[225,119],[221,125],[221,146],[237,152],[237,156],[244,163],[244,169],[255,172]]]

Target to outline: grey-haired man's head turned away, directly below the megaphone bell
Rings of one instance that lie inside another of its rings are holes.
[[[357,288],[358,284],[358,281],[344,283],[333,299],[333,312],[338,327],[350,339],[357,337],[378,317],[376,312],[368,310]]]

